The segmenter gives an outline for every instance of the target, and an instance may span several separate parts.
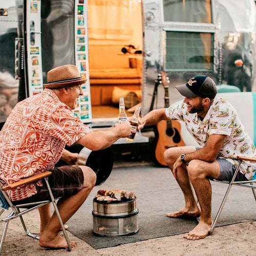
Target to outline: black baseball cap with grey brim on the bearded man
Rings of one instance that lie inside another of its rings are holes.
[[[217,94],[217,86],[210,77],[196,75],[189,79],[186,84],[176,86],[179,93],[185,97],[202,97],[214,99]]]

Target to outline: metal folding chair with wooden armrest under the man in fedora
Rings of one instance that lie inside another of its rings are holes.
[[[39,237],[36,236],[36,234],[32,234],[32,233],[29,232],[29,230],[27,229],[27,227],[25,225],[25,222],[23,220],[22,215],[27,214],[27,212],[35,210],[35,209],[37,209],[37,208],[39,208],[39,207],[41,207],[43,205],[46,205],[48,203],[51,203],[51,202],[52,202],[53,207],[55,209],[55,213],[56,213],[56,215],[58,217],[58,220],[59,220],[60,226],[62,228],[64,237],[65,237],[65,239],[67,241],[68,250],[71,251],[71,244],[70,244],[70,241],[69,241],[69,238],[68,238],[68,235],[67,235],[67,231],[66,231],[66,229],[65,229],[65,227],[63,225],[63,222],[61,220],[61,217],[60,217],[60,214],[59,214],[59,211],[58,211],[58,207],[57,207],[57,204],[56,204],[56,200],[58,198],[54,199],[53,194],[52,194],[52,190],[51,190],[50,185],[48,183],[48,176],[50,176],[51,174],[52,174],[51,172],[44,172],[42,174],[38,174],[38,175],[35,175],[33,177],[30,177],[30,178],[23,179],[21,181],[12,183],[12,184],[7,185],[5,187],[1,187],[0,186],[0,206],[2,206],[2,208],[3,208],[0,211],[0,221],[1,222],[5,222],[5,226],[4,226],[4,230],[3,230],[3,234],[2,234],[2,239],[1,239],[1,243],[0,243],[0,254],[2,252],[2,248],[3,248],[3,245],[4,245],[4,241],[5,241],[5,237],[6,237],[6,232],[7,232],[9,221],[13,220],[13,219],[15,219],[17,217],[19,217],[20,221],[22,222],[23,228],[24,228],[25,232],[27,233],[27,235],[29,237],[34,238],[34,239],[39,239]],[[28,204],[13,205],[13,203],[11,202],[9,196],[6,193],[7,190],[15,189],[15,188],[17,188],[17,187],[19,187],[21,185],[28,184],[28,183],[31,183],[31,182],[36,181],[36,180],[41,180],[43,178],[46,181],[46,184],[47,184],[47,187],[48,187],[48,190],[49,190],[49,194],[50,194],[51,200],[34,202],[34,203],[28,203]],[[10,214],[7,217],[2,217],[3,212],[8,210],[9,208],[11,208]],[[20,210],[21,208],[23,208],[23,210]]]

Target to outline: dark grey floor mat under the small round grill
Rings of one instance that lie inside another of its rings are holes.
[[[211,184],[212,215],[215,217],[227,186],[217,182]],[[138,233],[117,237],[99,237],[93,233],[93,198],[99,189],[135,191],[139,209]],[[196,220],[166,217],[167,212],[179,210],[183,206],[183,194],[168,168],[155,166],[115,168],[105,183],[93,188],[86,202],[69,220],[68,230],[94,249],[173,236],[188,232],[197,225]],[[233,187],[217,226],[255,221],[255,212],[256,204],[251,189]]]

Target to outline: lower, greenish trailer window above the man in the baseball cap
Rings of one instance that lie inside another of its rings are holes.
[[[165,70],[213,70],[214,35],[212,33],[166,31],[165,51]]]

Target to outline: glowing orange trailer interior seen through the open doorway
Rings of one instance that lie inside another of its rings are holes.
[[[119,97],[126,110],[141,99],[141,3],[89,0],[88,27],[92,116],[117,117]]]

